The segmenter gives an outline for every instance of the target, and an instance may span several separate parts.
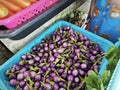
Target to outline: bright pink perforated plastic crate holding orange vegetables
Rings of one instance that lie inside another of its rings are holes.
[[[42,13],[58,1],[59,0],[38,0],[36,3],[21,10],[13,16],[0,20],[0,26],[4,25],[8,29],[15,28],[33,16]]]

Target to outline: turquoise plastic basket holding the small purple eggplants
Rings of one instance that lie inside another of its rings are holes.
[[[13,64],[18,63],[21,56],[23,54],[26,54],[27,52],[29,52],[31,50],[31,48],[33,46],[35,46],[36,44],[40,43],[41,40],[45,37],[47,37],[48,35],[52,34],[56,28],[61,27],[61,26],[71,26],[73,28],[74,31],[80,32],[81,34],[83,34],[84,36],[88,37],[91,41],[96,42],[97,44],[99,44],[100,48],[106,52],[106,50],[113,45],[112,42],[101,38],[87,30],[84,30],[76,25],[73,25],[71,23],[65,22],[65,21],[59,21],[56,22],[54,25],[52,25],[50,28],[48,28],[47,30],[45,30],[43,33],[41,33],[37,38],[35,38],[34,40],[32,40],[30,43],[28,43],[24,48],[22,48],[19,52],[17,52],[13,57],[11,57],[7,62],[5,62],[1,67],[0,67],[0,88],[1,90],[15,90],[14,88],[12,88],[9,85],[9,82],[7,81],[7,77],[5,76],[5,72],[6,70],[10,69]],[[101,72],[103,70],[106,69],[106,64],[107,64],[107,60],[105,58],[103,58],[103,62],[100,66],[100,71],[99,74],[101,74]]]

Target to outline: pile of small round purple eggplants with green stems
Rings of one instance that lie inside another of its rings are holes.
[[[104,52],[70,27],[57,28],[6,71],[17,90],[85,90],[85,78],[99,70]]]

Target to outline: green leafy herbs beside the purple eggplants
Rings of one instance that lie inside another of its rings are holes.
[[[86,78],[87,90],[106,90],[114,69],[120,59],[120,48],[111,46],[105,54],[108,60],[107,70],[101,76],[94,71]]]

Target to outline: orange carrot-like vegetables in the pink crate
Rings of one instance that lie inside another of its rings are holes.
[[[14,15],[37,0],[0,0],[0,19]]]

